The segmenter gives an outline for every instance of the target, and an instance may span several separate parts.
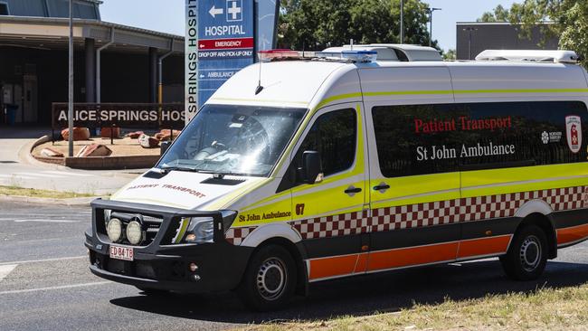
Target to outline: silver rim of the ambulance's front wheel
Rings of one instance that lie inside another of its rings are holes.
[[[257,272],[257,290],[262,298],[275,300],[284,292],[287,280],[284,262],[278,258],[270,258],[261,263]]]

